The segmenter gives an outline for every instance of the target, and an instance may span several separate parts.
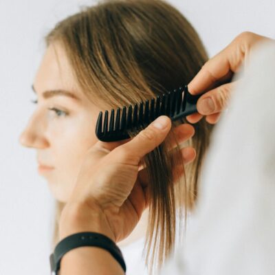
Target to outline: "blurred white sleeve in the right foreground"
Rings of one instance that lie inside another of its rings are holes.
[[[275,45],[250,60],[212,136],[188,242],[162,275],[275,274]]]

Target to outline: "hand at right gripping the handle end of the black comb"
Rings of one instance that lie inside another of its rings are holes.
[[[221,111],[228,107],[232,90],[236,85],[236,81],[228,82],[231,81],[233,74],[238,72],[241,65],[246,63],[254,46],[265,41],[272,41],[272,39],[252,32],[243,32],[203,65],[189,83],[188,90],[194,95],[201,94],[203,91],[207,92],[197,101],[199,113],[186,116],[188,122],[196,123],[203,115],[206,115],[206,121],[210,124],[219,120]],[[207,98],[210,100],[208,101]]]

